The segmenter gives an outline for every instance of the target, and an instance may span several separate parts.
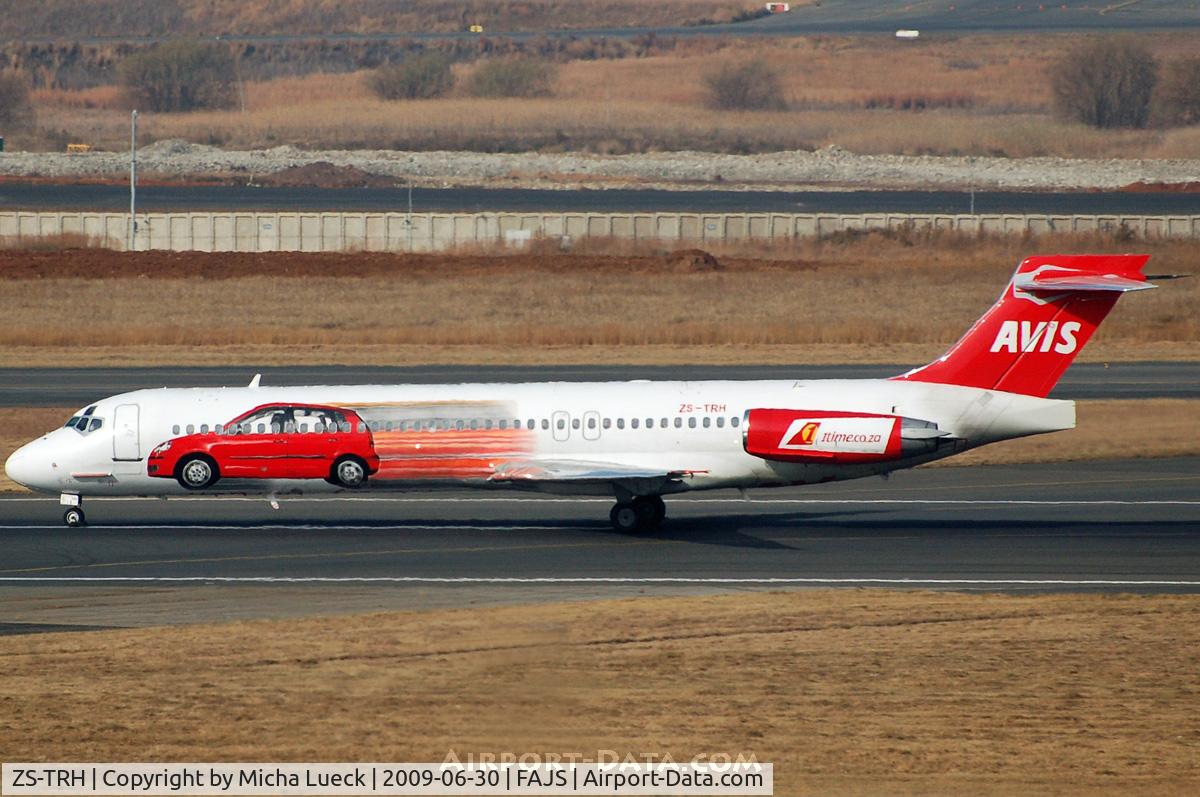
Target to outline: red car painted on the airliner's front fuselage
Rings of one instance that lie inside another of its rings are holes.
[[[367,424],[353,411],[322,405],[271,403],[228,424],[160,444],[146,463],[151,477],[188,490],[218,479],[325,479],[360,487],[379,469]]]

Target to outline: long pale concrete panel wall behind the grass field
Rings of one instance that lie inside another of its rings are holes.
[[[125,248],[128,214],[0,212],[0,238],[86,236]],[[913,224],[968,233],[1070,233],[1124,226],[1146,238],[1200,238],[1200,216],[952,214],[138,214],[136,248],[202,252],[431,252],[521,246],[532,238],[605,236],[690,244],[827,235]]]

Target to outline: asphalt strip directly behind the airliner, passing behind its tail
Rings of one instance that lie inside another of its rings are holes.
[[[83,406],[140,388],[241,386],[256,373],[264,385],[440,384],[458,382],[605,382],[622,379],[857,379],[887,378],[916,364],[713,366],[215,366],[145,368],[0,368],[0,407]],[[1054,398],[1200,398],[1200,362],[1079,362]]]

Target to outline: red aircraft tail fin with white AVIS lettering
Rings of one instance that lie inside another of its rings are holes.
[[[1026,258],[1000,300],[946,354],[895,377],[1046,396],[1127,290],[1153,288],[1148,254]]]

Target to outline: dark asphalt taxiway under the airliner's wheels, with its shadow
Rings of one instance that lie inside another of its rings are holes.
[[[670,498],[0,498],[0,633],[731,589],[1200,592],[1200,457]]]

